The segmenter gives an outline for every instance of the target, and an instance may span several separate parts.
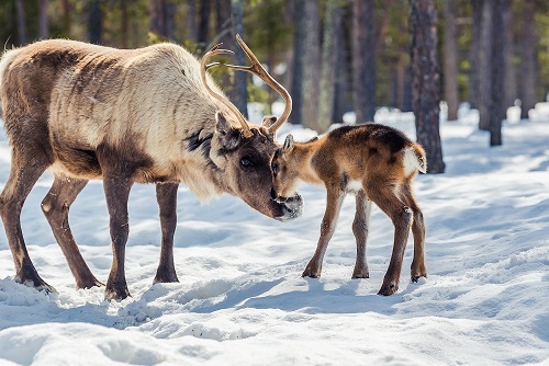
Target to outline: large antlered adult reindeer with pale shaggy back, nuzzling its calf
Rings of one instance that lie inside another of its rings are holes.
[[[219,45],[201,62],[172,44],[114,49],[61,39],[3,55],[0,91],[12,165],[0,214],[15,281],[54,290],[31,262],[20,224],[25,197],[46,169],[55,179],[42,209],[78,288],[101,283],[78,250],[68,211],[89,180],[103,180],[113,251],[109,299],[130,295],[124,253],[127,199],[135,182],[156,183],[163,238],[155,283],[178,281],[172,251],[180,182],[201,201],[226,192],[278,220],[301,214],[300,199],[284,204],[271,197],[274,135],[290,115],[291,98],[237,41],[253,65],[226,66],[255,73],[277,90],[285,102],[280,118],[248,124],[212,83],[206,70],[217,64],[208,65],[209,59],[233,54]]]

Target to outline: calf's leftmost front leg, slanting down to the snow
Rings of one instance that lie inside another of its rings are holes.
[[[341,208],[341,203],[345,197],[345,193],[339,188],[328,188],[328,197],[326,204],[326,211],[324,213],[324,218],[321,225],[321,238],[318,239],[318,244],[316,245],[316,251],[313,258],[309,261],[305,271],[303,271],[302,277],[320,277],[322,272],[322,261],[324,259],[324,253],[328,247],[329,239],[334,235],[334,229],[336,227],[337,217],[339,215],[339,209]]]

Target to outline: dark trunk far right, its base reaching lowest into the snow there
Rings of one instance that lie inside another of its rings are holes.
[[[511,1],[493,0],[492,18],[492,52],[491,79],[492,101],[490,103],[490,146],[502,145],[502,121],[506,117],[507,104],[505,100],[505,67],[507,56],[507,37],[505,32],[509,25]],[[502,36],[503,35],[503,36]]]

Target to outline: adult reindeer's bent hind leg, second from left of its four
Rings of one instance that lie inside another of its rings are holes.
[[[91,288],[101,284],[86,264],[72,237],[68,222],[70,205],[88,181],[56,175],[52,188],[42,201],[42,210],[52,227],[54,237],[67,259],[77,288]]]

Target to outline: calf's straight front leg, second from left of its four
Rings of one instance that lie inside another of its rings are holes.
[[[357,262],[352,278],[369,278],[368,263],[366,261],[366,241],[370,226],[370,211],[372,203],[366,197],[365,191],[360,190],[356,195],[357,211],[352,221],[352,233],[357,240]]]

